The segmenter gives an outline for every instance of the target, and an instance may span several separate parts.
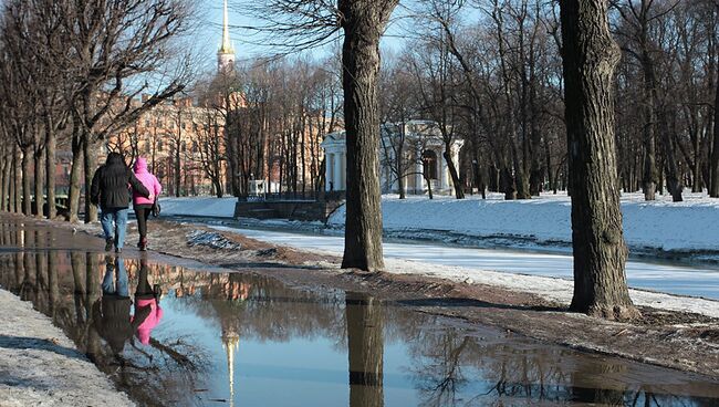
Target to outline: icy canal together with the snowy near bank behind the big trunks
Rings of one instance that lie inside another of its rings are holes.
[[[344,248],[342,237],[210,227],[315,253],[341,255]],[[384,253],[386,270],[392,273],[500,286],[562,304],[572,300],[570,255],[393,242],[384,244]],[[631,261],[627,278],[635,288],[629,293],[637,305],[719,317],[719,270]]]

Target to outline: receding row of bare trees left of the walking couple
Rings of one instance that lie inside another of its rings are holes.
[[[3,3],[0,209],[55,217],[62,148],[73,157],[66,217],[77,219],[84,190],[84,219],[96,219],[86,186],[102,143],[185,87],[190,13],[184,0]],[[152,96],[132,104],[142,93]]]

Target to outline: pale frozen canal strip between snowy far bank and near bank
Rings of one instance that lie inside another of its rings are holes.
[[[342,236],[277,231],[265,229],[217,227],[233,230],[249,238],[298,249],[321,250],[342,254]],[[428,264],[442,264],[468,270],[493,270],[572,279],[571,254],[527,250],[477,249],[427,242],[384,243],[385,258],[411,260]],[[719,300],[719,269],[707,265],[688,265],[667,261],[627,262],[629,286],[670,294],[702,296]]]

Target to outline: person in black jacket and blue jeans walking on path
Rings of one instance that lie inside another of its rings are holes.
[[[114,244],[115,251],[119,253],[125,244],[129,187],[149,200],[155,198],[127,167],[123,156],[110,153],[105,164],[95,171],[90,189],[90,201],[100,205],[102,211],[100,221],[105,232],[106,251],[112,250]]]

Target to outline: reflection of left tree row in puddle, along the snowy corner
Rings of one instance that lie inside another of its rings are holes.
[[[135,400],[143,405],[197,401],[191,389],[207,367],[207,351],[194,341],[153,338],[148,347],[133,343],[114,355],[101,340],[91,321],[104,272],[97,254],[22,252],[0,257],[0,264],[15,271],[0,273],[0,284],[51,316]]]

